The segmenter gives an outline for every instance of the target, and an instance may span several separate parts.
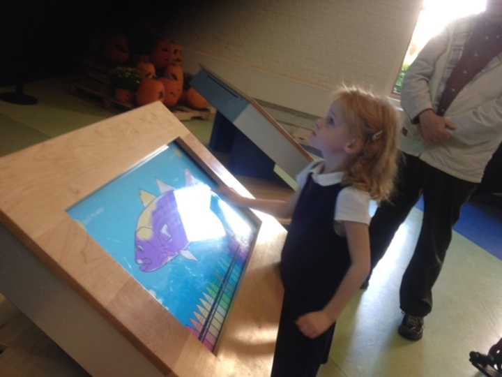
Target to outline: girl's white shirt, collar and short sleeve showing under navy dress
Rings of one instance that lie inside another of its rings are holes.
[[[321,173],[324,161],[314,161],[307,165],[297,176],[299,189],[307,182],[307,177],[312,172],[312,179],[321,186],[330,186],[342,182],[343,172]],[[342,221],[354,221],[356,223],[370,224],[370,194],[358,188],[347,186],[338,194],[335,206],[335,219],[333,226],[338,235],[343,235]]]

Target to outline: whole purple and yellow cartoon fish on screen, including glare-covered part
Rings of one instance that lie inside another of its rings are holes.
[[[251,228],[239,222],[233,209],[189,170],[185,170],[185,183],[174,189],[157,180],[158,197],[140,192],[145,209],[136,227],[135,260],[143,272],[153,272],[176,256],[197,261],[188,251],[190,242],[227,237],[229,251],[247,254]],[[236,234],[234,226],[242,234]]]

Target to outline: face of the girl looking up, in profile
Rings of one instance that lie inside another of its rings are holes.
[[[335,101],[326,117],[316,122],[316,128],[312,131],[309,142],[326,157],[330,154],[347,153],[347,145],[350,145],[353,139],[354,136],[349,132],[349,126],[342,117],[342,107]]]

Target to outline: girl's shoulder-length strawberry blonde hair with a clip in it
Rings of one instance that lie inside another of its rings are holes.
[[[343,183],[367,191],[374,200],[389,200],[400,155],[396,110],[386,98],[358,87],[341,87],[333,100],[340,103],[349,132],[363,142],[351,156]]]

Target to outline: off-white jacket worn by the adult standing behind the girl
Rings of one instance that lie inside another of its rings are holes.
[[[410,66],[401,94],[401,105],[407,114],[402,151],[469,182],[481,181],[485,166],[502,142],[502,53],[466,84],[446,111],[444,116],[457,126],[450,140],[425,145],[418,125],[411,124],[411,119],[428,108],[437,110],[439,90],[448,79],[445,71],[448,64],[451,70],[455,48],[457,53],[463,48],[478,17],[453,22],[432,39]]]

